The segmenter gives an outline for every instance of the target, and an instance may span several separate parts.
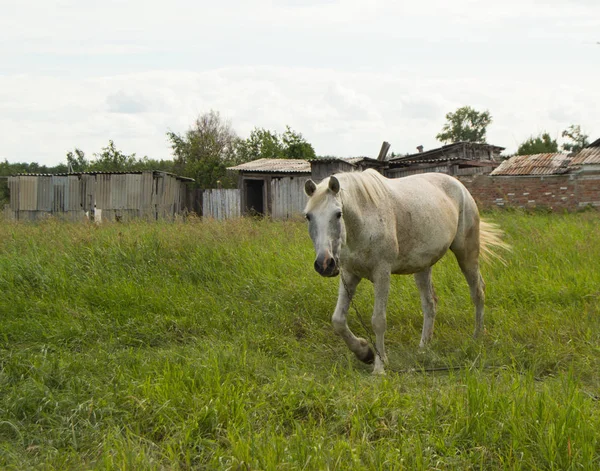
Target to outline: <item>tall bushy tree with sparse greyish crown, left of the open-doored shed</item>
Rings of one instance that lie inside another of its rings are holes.
[[[177,173],[195,179],[202,188],[214,188],[218,182],[225,187],[235,186],[226,169],[238,163],[238,137],[219,112],[211,110],[201,115],[184,135],[169,131],[167,137]]]

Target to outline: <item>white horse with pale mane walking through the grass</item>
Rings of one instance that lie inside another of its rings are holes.
[[[388,179],[366,170],[340,173],[318,185],[308,180],[305,191],[315,270],[328,277],[341,272],[333,328],[359,360],[375,362],[374,374],[383,374],[387,363],[384,333],[390,276],[414,274],[424,314],[420,343],[424,347],[433,334],[437,303],[432,266],[448,249],[469,284],[475,336],[481,334],[485,284],[479,256],[495,255],[492,248],[508,245],[496,225],[480,220],[477,205],[462,183],[440,173]],[[362,278],[370,280],[375,290],[371,321],[377,355],[365,339],[350,331],[346,320]]]

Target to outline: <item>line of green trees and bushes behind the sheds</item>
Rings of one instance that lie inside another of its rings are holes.
[[[488,110],[477,111],[463,106],[446,114],[446,123],[436,138],[444,143],[459,141],[486,142],[486,134],[492,116]],[[565,152],[577,153],[589,144],[589,136],[579,125],[571,125],[562,132],[566,141]],[[227,167],[239,165],[259,158],[270,159],[313,159],[313,146],[303,135],[286,126],[283,133],[255,127],[246,139],[240,138],[231,123],[223,119],[218,111],[211,110],[200,115],[184,133],[167,132],[173,158],[166,160],[137,157],[135,153],[121,152],[112,140],[101,152],[91,158],[79,148],[69,151],[66,160],[56,166],[31,163],[9,163],[0,161],[0,177],[17,173],[69,173],[69,172],[126,172],[160,170],[191,177],[201,188],[235,187],[233,175]],[[516,155],[558,152],[557,139],[549,133],[532,135],[522,142]],[[398,154],[395,154],[398,155]],[[0,209],[8,198],[6,180],[0,178]]]

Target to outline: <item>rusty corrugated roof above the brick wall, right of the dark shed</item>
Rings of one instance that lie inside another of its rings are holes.
[[[570,170],[570,163],[571,157],[560,152],[515,155],[498,165],[490,175],[561,175]]]

